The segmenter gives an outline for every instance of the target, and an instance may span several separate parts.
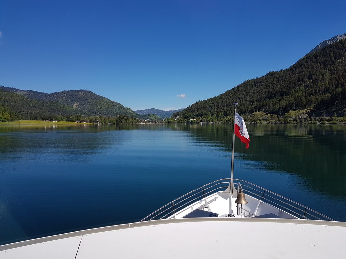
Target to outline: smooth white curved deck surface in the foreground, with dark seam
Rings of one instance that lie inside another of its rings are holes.
[[[0,246],[0,258],[346,258],[345,222],[173,219],[74,235]]]

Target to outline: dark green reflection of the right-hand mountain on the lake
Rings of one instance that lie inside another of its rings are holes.
[[[195,140],[206,140],[231,152],[229,124],[170,124],[167,127],[188,131]],[[265,162],[257,166],[266,170],[302,176],[310,188],[320,192],[346,195],[345,125],[249,124],[247,128],[251,148],[246,150],[243,143],[236,141],[238,158]]]

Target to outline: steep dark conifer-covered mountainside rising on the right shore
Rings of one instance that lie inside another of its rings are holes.
[[[283,115],[311,108],[311,114],[345,115],[346,40],[339,40],[312,55],[306,55],[291,67],[274,71],[207,100],[199,101],[172,117],[225,118],[233,116],[233,103],[240,114],[257,111]]]

